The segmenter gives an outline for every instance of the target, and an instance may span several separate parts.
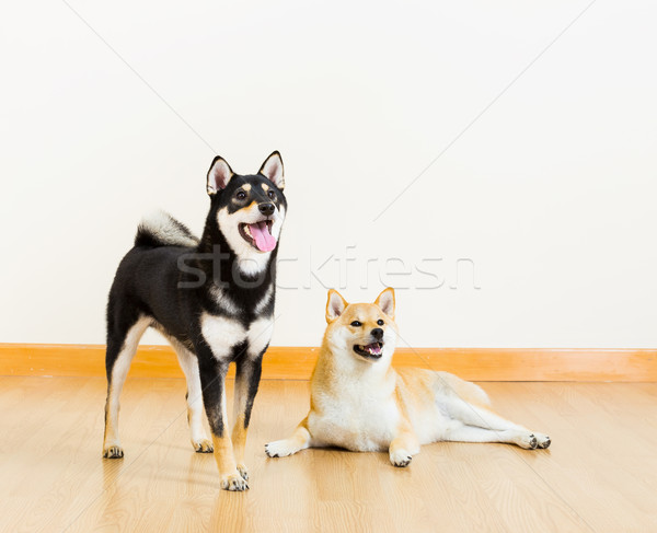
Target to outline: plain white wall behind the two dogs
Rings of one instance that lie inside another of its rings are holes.
[[[141,213],[200,231],[215,151],[278,149],[274,344],[319,344],[322,281],[411,287],[413,346],[657,346],[654,2],[593,3],[376,222],[588,0],[217,3],[70,1],[153,90],[66,3],[4,11],[0,341],[103,343]]]

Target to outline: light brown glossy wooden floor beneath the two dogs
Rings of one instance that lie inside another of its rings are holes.
[[[235,494],[192,451],[182,380],[128,380],[126,456],[108,461],[103,379],[0,378],[0,531],[657,531],[657,384],[484,386],[552,447],[436,443],[407,470],[382,453],[267,459],[265,442],[304,416],[308,384],[264,381],[251,490]]]

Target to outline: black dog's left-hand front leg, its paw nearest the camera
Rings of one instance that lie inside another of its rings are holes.
[[[203,386],[203,403],[212,432],[215,460],[219,468],[221,488],[224,490],[246,490],[249,485],[238,472],[232,441],[226,427],[228,421],[226,407],[228,362],[215,359],[212,352],[206,346],[199,345],[196,349],[200,385]]]

